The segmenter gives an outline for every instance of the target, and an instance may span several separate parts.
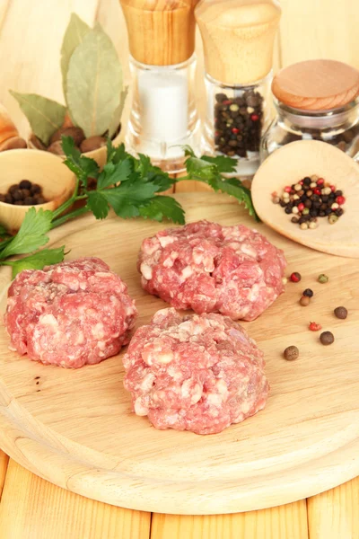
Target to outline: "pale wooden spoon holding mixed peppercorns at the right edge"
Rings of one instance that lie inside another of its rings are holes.
[[[318,228],[302,230],[291,223],[293,214],[272,202],[285,185],[317,174],[346,197],[345,213],[334,225],[318,218]],[[299,140],[283,146],[262,163],[252,182],[252,198],[261,220],[279,234],[317,251],[359,258],[359,165],[335,146],[317,140]]]

